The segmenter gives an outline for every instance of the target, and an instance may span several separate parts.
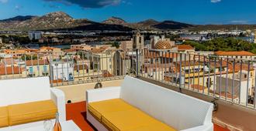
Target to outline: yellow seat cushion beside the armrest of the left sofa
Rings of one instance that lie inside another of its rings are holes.
[[[8,110],[10,126],[54,119],[57,113],[57,107],[52,100],[11,105]]]

